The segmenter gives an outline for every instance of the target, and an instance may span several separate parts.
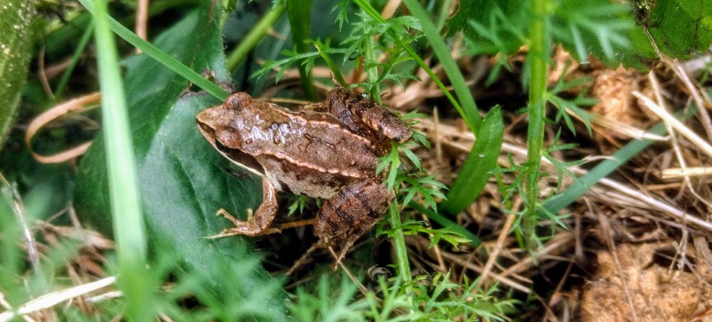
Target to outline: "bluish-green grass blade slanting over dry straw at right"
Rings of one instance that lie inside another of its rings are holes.
[[[683,115],[683,119],[690,118],[696,109],[691,108]],[[667,130],[663,123],[659,123],[648,130],[649,133],[656,135],[665,135]],[[586,175],[580,177],[579,180],[570,185],[564,192],[557,194],[555,197],[544,202],[543,207],[552,213],[560,212],[561,209],[568,207],[572,202],[581,197],[590,187],[593,187],[602,178],[607,177],[612,172],[624,165],[630,158],[638,155],[642,150],[651,145],[654,141],[651,140],[632,140],[627,145],[617,150],[610,159],[600,162],[598,165],[589,170]]]

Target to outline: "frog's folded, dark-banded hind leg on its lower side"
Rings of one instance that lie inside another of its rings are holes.
[[[354,242],[382,218],[393,198],[394,193],[377,180],[354,182],[323,204],[314,232],[324,241],[345,241],[338,263]]]

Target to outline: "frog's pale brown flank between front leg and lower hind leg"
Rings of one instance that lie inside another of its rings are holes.
[[[359,180],[338,173],[298,167],[272,155],[258,155],[255,159],[263,165],[266,177],[276,189],[292,194],[330,199],[354,180]]]

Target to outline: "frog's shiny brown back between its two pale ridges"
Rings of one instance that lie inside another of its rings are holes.
[[[256,120],[251,140],[242,150],[251,155],[272,155],[303,167],[350,177],[375,175],[377,157],[369,140],[345,129],[332,115],[315,112],[281,113],[282,123]],[[361,173],[367,173],[361,175]]]

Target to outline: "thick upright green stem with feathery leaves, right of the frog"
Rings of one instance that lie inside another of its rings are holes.
[[[527,133],[527,173],[525,175],[525,217],[523,218],[523,234],[525,245],[529,251],[535,251],[538,246],[536,226],[538,224],[539,202],[539,171],[544,142],[544,115],[546,108],[546,80],[548,35],[547,14],[548,0],[533,0],[531,2],[534,15],[529,26],[529,128]]]

